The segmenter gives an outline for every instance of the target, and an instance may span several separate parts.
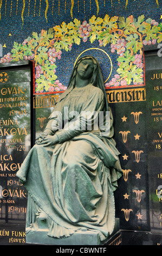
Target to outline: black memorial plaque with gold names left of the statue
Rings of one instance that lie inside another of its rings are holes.
[[[27,191],[16,172],[33,144],[31,83],[30,64],[0,68],[0,244],[25,242]]]

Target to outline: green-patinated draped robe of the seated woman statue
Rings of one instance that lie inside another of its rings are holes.
[[[45,131],[57,135],[59,143],[35,145],[16,174],[28,190],[27,231],[36,228],[43,211],[49,236],[67,237],[86,227],[98,231],[102,241],[113,232],[113,192],[122,170],[112,136],[102,137],[94,125],[103,105],[102,90],[91,84],[56,104]]]

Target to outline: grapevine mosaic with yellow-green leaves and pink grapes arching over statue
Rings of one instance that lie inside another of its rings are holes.
[[[112,86],[133,86],[144,82],[143,51],[144,45],[162,41],[162,24],[152,19],[145,20],[141,15],[125,17],[107,14],[103,19],[93,15],[89,21],[74,19],[69,23],[62,22],[38,34],[33,32],[21,44],[14,42],[8,54],[0,63],[18,60],[34,60],[35,92],[63,92],[66,90],[57,77],[57,62],[61,62],[62,51],[72,51],[73,45],[80,45],[81,40],[91,44],[98,41],[99,47],[109,46],[116,54],[118,69],[111,81],[105,84]]]

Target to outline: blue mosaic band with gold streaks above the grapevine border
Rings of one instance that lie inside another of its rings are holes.
[[[11,11],[11,2],[12,2],[12,11]],[[53,8],[54,2],[54,9]],[[144,14],[145,18],[151,17],[156,21],[160,21],[160,16],[162,14],[162,2],[159,1],[159,7],[155,0],[128,0],[126,7],[126,0],[99,0],[99,13],[97,15],[97,7],[95,0],[91,0],[91,10],[90,10],[90,1],[85,1],[85,13],[83,7],[83,0],[79,0],[79,12],[77,7],[77,2],[74,0],[73,7],[73,19],[79,20],[88,20],[93,15],[104,17],[106,14],[109,16],[124,16],[128,17],[133,15],[136,19],[138,16]],[[120,2],[120,3],[119,3]],[[23,13],[23,22],[22,22],[22,8],[23,0],[18,0],[18,10],[16,15],[16,4],[17,0],[10,1],[7,0],[7,7],[5,9],[5,1],[2,1],[1,7],[1,37],[0,42],[2,45],[6,44],[7,49],[4,50],[4,54],[12,48],[13,42],[22,42],[28,35],[33,31],[41,32],[41,29],[48,29],[50,27],[59,25],[63,21],[66,23],[72,21],[72,16],[70,14],[71,1],[66,1],[66,13],[64,8],[64,0],[60,0],[60,15],[59,15],[59,0],[49,0],[48,1],[48,10],[47,10],[47,20],[45,17],[46,11],[46,1],[41,1],[41,12],[40,12],[40,0],[30,0],[30,9],[29,9],[29,0],[25,0],[25,9]],[[34,16],[35,8],[35,16]],[[29,10],[29,16],[28,16]],[[23,26],[22,26],[23,23]],[[8,36],[11,33],[12,36]]]

